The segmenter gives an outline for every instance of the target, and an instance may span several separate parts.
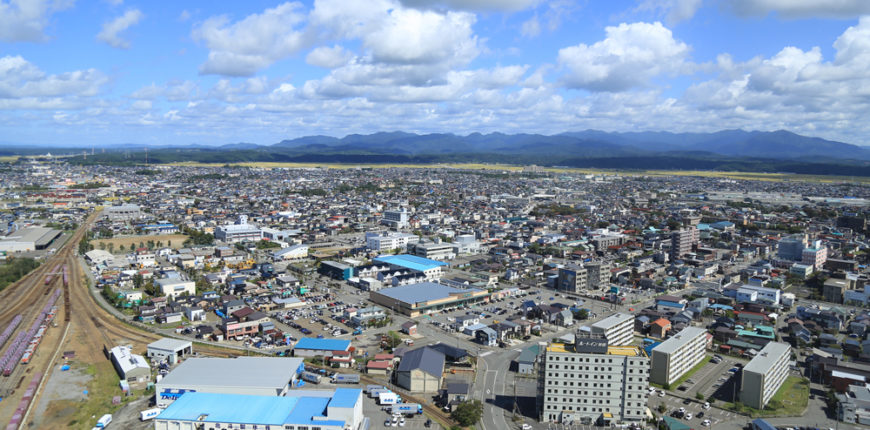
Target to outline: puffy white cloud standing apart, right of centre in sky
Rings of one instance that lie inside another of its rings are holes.
[[[602,41],[559,50],[559,64],[567,71],[562,77],[565,86],[625,91],[662,74],[677,74],[686,66],[689,47],[661,23],[623,23],[605,31],[607,38]]]

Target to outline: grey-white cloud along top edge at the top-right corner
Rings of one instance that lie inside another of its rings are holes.
[[[776,12],[785,18],[856,18],[870,14],[867,0],[732,0],[726,4],[740,16]]]

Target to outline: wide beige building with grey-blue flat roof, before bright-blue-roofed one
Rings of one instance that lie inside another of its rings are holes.
[[[434,282],[369,292],[369,300],[412,318],[445,308],[479,303],[488,297],[486,290],[448,287]]]

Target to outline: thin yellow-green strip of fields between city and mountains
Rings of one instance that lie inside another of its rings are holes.
[[[169,166],[196,166],[196,167],[217,167],[223,166],[226,163],[171,163]],[[456,163],[456,164],[340,164],[340,163],[274,163],[274,162],[245,162],[231,163],[232,166],[253,167],[261,169],[305,169],[305,168],[324,168],[324,169],[356,169],[356,168],[371,168],[371,169],[387,169],[395,167],[405,167],[409,169],[468,169],[468,170],[496,170],[505,172],[520,172],[523,166],[514,166],[509,164],[484,164],[484,163]],[[768,182],[815,182],[815,183],[837,183],[837,182],[857,182],[870,183],[870,178],[858,176],[827,176],[827,175],[798,175],[791,173],[761,173],[761,172],[720,172],[706,170],[607,170],[607,169],[581,169],[581,168],[542,168],[544,172],[551,173],[574,173],[574,174],[601,174],[601,175],[623,175],[623,176],[698,176],[704,178],[722,178],[722,179],[738,179],[748,181],[768,181]]]

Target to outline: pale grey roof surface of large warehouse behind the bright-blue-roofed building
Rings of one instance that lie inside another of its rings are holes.
[[[185,386],[262,387],[280,391],[302,364],[301,358],[238,357],[189,358],[166,375],[160,384]]]

